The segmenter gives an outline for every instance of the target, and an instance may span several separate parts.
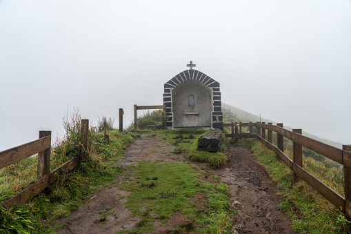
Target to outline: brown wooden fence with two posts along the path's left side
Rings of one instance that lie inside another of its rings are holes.
[[[88,129],[89,119],[81,119],[81,142],[83,146],[81,155],[70,159],[65,164],[52,170],[51,173],[51,131],[39,131],[39,139],[21,146],[1,151],[0,169],[38,153],[38,182],[28,186],[27,188],[23,189],[23,191],[17,193],[17,195],[14,195],[14,197],[8,199],[3,203],[3,206],[10,208],[13,205],[25,204],[30,199],[41,193],[41,191],[43,191],[48,185],[52,184],[57,174],[65,173],[66,170],[74,168],[74,166],[77,166],[81,160],[86,158],[88,156]]]

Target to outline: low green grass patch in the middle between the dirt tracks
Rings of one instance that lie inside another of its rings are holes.
[[[137,179],[119,187],[131,192],[126,208],[132,215],[141,217],[141,221],[132,230],[119,233],[150,233],[154,231],[152,222],[160,220],[165,224],[176,214],[182,214],[191,222],[170,230],[170,233],[184,228],[199,233],[230,232],[234,212],[225,184],[185,162],[141,161],[131,169],[131,176]],[[201,204],[194,204],[200,194],[205,198]]]

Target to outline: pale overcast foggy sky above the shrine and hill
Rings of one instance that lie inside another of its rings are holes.
[[[349,0],[0,0],[0,151],[74,107],[128,126],[190,60],[224,103],[351,144]]]

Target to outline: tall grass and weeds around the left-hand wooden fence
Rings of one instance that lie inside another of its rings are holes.
[[[50,170],[79,155],[81,150],[79,111],[75,111],[70,119],[66,116],[63,122],[67,134],[52,150]],[[103,133],[95,129],[90,129],[90,156],[70,173],[59,175],[54,184],[27,204],[10,209],[1,206],[22,188],[37,182],[37,157],[0,170],[0,233],[50,233],[52,220],[69,215],[96,188],[115,182],[116,175],[123,173],[123,169],[114,164],[114,160],[121,157],[132,137],[118,130],[108,130],[110,143],[107,144]]]

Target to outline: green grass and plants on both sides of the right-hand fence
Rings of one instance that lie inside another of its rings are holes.
[[[225,122],[248,122],[248,120],[240,119],[241,115],[236,114],[223,109]],[[248,129],[243,128],[243,131],[248,132]],[[296,231],[301,233],[345,233],[347,222],[345,216],[303,180],[295,183],[290,168],[281,162],[272,150],[263,146],[257,139],[241,139],[237,144],[250,146],[254,155],[259,158],[261,165],[270,173],[274,182],[277,182],[280,189],[278,194],[284,198],[279,208],[291,217]],[[273,133],[273,144],[277,145],[277,133]],[[292,141],[285,137],[284,153],[292,159]],[[303,147],[303,168],[337,193],[344,195],[343,170],[337,162]]]

